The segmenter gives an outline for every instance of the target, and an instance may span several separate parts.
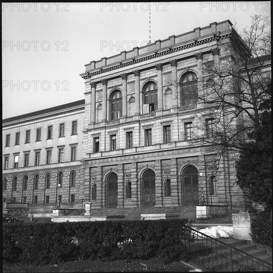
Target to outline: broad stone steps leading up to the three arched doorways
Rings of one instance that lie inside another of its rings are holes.
[[[67,216],[83,216],[85,209],[74,209]],[[191,206],[176,207],[132,207],[132,208],[93,208],[91,217],[106,215],[125,215],[125,220],[140,220],[141,214],[169,213],[177,214],[179,218],[196,218],[196,208]]]

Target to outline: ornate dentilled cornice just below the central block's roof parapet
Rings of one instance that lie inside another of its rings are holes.
[[[115,65],[113,67],[100,68],[99,70],[94,71],[94,72],[86,71],[85,72],[86,75],[83,75],[82,78],[88,79],[88,78],[91,78],[91,76],[99,75],[101,73],[112,71],[112,70],[122,68],[122,67],[128,67],[128,66],[131,66],[131,65],[134,65],[134,64],[137,64],[137,63],[145,62],[145,61],[148,61],[148,60],[151,60],[151,59],[154,59],[154,58],[157,58],[157,57],[161,57],[161,56],[164,56],[164,55],[168,55],[168,54],[171,54],[171,53],[174,53],[174,52],[177,52],[177,51],[181,51],[181,50],[184,50],[184,49],[195,47],[197,45],[202,45],[202,44],[205,44],[205,43],[208,43],[208,42],[211,42],[211,41],[215,41],[215,40],[219,41],[220,39],[223,40],[225,38],[231,37],[232,35],[233,35],[232,33],[228,33],[228,34],[224,34],[224,35],[220,36],[220,32],[215,32],[213,34],[213,37],[209,37],[209,38],[197,41],[197,42],[192,42],[192,43],[182,45],[182,46],[179,46],[179,47],[176,47],[176,48],[174,46],[173,47],[168,47],[168,48],[166,48],[166,50],[163,49],[164,51],[158,52],[156,55],[152,54],[152,55],[149,55],[149,56],[145,56],[145,57],[141,57],[139,59],[136,59],[137,57],[139,57],[139,56],[137,56],[137,57],[133,57],[131,60],[125,60],[125,61],[127,61],[126,63],[118,64],[118,65]]]

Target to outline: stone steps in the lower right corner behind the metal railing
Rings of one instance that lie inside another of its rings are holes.
[[[203,271],[209,272],[237,272],[237,271],[270,271],[272,272],[272,249],[251,244],[247,240],[218,239],[233,246],[237,251],[221,248],[218,244],[208,244],[206,240],[199,240],[198,245],[190,248],[192,255],[189,264]],[[203,241],[203,242],[200,242]],[[245,252],[247,255],[242,255]],[[259,260],[252,259],[258,258]],[[266,263],[263,263],[266,262]]]

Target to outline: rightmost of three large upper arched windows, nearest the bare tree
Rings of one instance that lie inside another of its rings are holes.
[[[196,104],[197,95],[198,95],[197,76],[193,72],[187,72],[180,79],[181,106]]]

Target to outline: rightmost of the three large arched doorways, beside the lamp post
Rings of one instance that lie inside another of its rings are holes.
[[[199,205],[198,170],[194,166],[185,168],[182,173],[183,205]]]

